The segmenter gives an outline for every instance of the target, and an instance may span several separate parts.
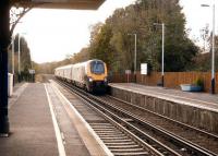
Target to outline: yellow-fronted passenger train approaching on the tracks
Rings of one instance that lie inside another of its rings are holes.
[[[55,69],[55,76],[89,93],[106,93],[108,87],[107,65],[98,59],[59,67]]]

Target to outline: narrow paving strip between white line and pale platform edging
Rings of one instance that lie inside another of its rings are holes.
[[[56,91],[52,86],[47,83],[45,87],[50,96],[51,105],[56,112],[56,118],[61,131],[63,139],[63,144],[65,148],[66,156],[89,156],[89,152],[83,143],[76,128],[74,127],[72,120],[69,118],[62,101],[57,96]]]

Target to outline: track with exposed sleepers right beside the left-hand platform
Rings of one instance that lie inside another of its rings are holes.
[[[63,92],[64,93],[64,92]],[[74,98],[71,95],[64,94],[66,98],[70,100]],[[96,132],[96,134],[100,137],[100,140],[106,144],[106,146],[110,149],[113,155],[122,156],[145,156],[152,155],[149,154],[141,143],[133,140],[130,135],[125,134],[121,129],[114,127],[111,122],[112,119],[104,115],[104,119],[98,117],[99,115],[95,115],[96,112],[93,111],[87,105],[73,104],[73,107],[83,116],[86,122],[92,127],[92,129]],[[94,117],[95,116],[95,117]],[[92,120],[90,118],[94,118]],[[106,119],[106,120],[105,120]],[[110,122],[108,122],[109,120]],[[129,149],[126,149],[129,147]],[[154,155],[154,154],[153,154]]]

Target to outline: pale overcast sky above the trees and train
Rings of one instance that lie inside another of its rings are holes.
[[[124,8],[134,1],[106,0],[98,11],[34,9],[22,19],[15,33],[24,34],[34,61],[41,63],[62,60],[88,46],[90,25],[104,22],[114,9]],[[181,0],[187,20],[186,27],[192,29],[191,38],[198,37],[199,29],[206,24],[211,27],[211,8],[201,8],[201,4],[211,4],[213,1]]]

